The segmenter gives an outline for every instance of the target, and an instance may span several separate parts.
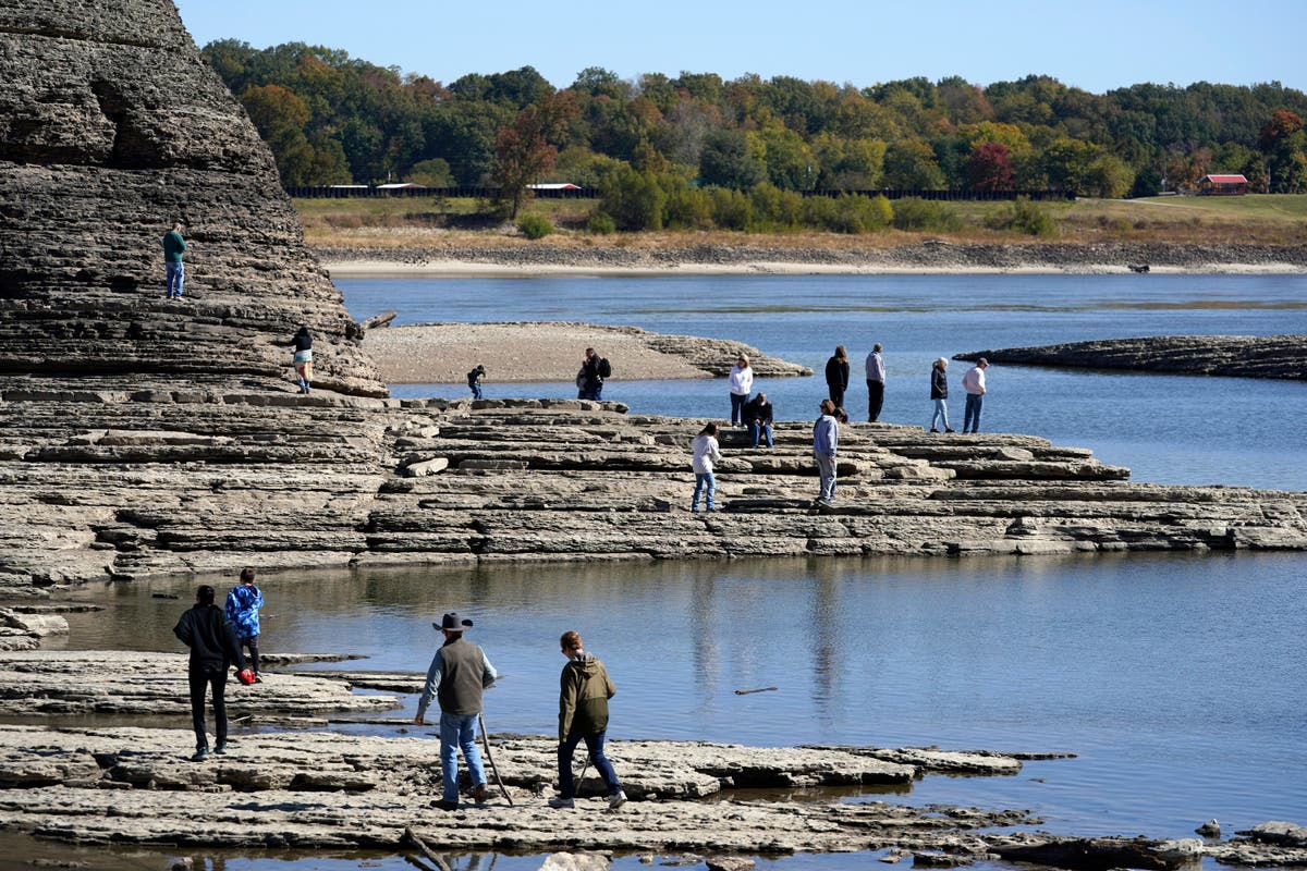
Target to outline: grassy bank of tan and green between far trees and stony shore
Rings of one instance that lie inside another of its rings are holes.
[[[489,205],[472,198],[378,197],[295,200],[310,244],[349,248],[422,248],[511,244],[516,227],[490,217]],[[940,204],[957,215],[953,231],[902,231],[850,235],[796,230],[750,234],[736,231],[659,231],[596,235],[586,221],[595,200],[535,200],[524,213],[540,214],[557,227],[553,245],[657,247],[667,244],[767,244],[802,248],[887,248],[925,238],[954,243],[1029,242],[1030,235],[996,229],[1012,213],[1009,202]],[[1149,197],[1141,200],[1076,200],[1040,202],[1059,242],[1180,244],[1307,244],[1307,195],[1243,197]]]

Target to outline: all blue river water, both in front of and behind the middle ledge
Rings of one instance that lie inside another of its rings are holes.
[[[634,324],[741,340],[814,370],[836,342],[860,358],[880,341],[890,371],[882,418],[912,424],[927,420],[927,375],[940,355],[1119,336],[1307,333],[1303,277],[337,283],[356,317],[395,308],[399,323]],[[613,364],[605,398],[635,411],[724,415],[729,407],[721,380],[626,383],[621,362]],[[954,363],[954,384],[961,368]],[[1307,490],[1304,384],[1000,366],[988,377],[988,431],[1090,447],[1134,469],[1136,479]],[[855,371],[853,411],[865,400],[859,379]],[[810,418],[823,394],[819,376],[762,388],[791,419]],[[460,396],[465,388],[395,392]],[[570,384],[486,385],[490,397],[574,392]],[[81,598],[107,610],[71,615],[68,644],[175,649],[170,628],[192,584],[85,589]],[[488,696],[491,731],[553,730],[557,637],[576,628],[617,682],[614,738],[1072,752],[1076,759],[1027,763],[1017,777],[928,777],[894,799],[1033,808],[1046,828],[1078,834],[1185,837],[1213,816],[1226,832],[1270,819],[1307,823],[1300,554],[389,569],[268,576],[263,588],[265,650],[369,657],[345,667],[425,670],[437,642],[431,618],[469,614],[505,674]],[[735,692],[762,687],[776,691]],[[403,701],[396,716],[410,716],[416,699]],[[763,867],[868,861],[793,857]],[[230,871],[284,863],[223,862]],[[456,867],[477,862],[485,857],[463,857]],[[285,864],[357,867],[323,858]],[[497,867],[537,866],[499,857]]]

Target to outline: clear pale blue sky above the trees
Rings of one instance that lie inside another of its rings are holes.
[[[532,65],[559,87],[586,67],[796,76],[856,86],[1030,73],[1100,94],[1137,82],[1307,90],[1307,0],[178,0],[201,47],[306,42],[451,82]]]

